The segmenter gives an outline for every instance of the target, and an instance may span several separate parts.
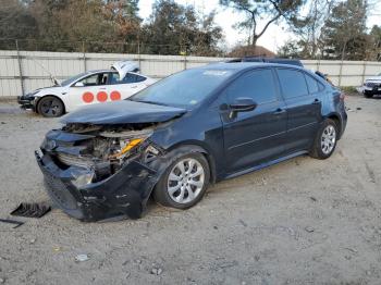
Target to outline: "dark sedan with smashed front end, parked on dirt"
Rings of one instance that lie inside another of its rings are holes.
[[[309,153],[329,158],[344,133],[344,97],[292,65],[187,70],[127,100],[63,117],[36,151],[51,199],[82,221],[137,219],[152,195],[177,209],[208,185]]]

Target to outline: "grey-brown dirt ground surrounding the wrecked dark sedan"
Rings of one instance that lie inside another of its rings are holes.
[[[346,102],[329,160],[219,183],[187,211],[151,202],[137,221],[82,223],[54,209],[0,223],[0,284],[381,284],[381,98]],[[48,201],[34,150],[58,126],[0,103],[0,218]]]

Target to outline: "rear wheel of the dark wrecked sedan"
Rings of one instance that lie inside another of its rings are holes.
[[[328,159],[336,148],[339,128],[336,122],[327,119],[320,126],[309,154],[316,159]]]

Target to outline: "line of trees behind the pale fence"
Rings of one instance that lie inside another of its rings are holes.
[[[300,59],[381,60],[381,26],[368,30],[371,0],[219,0],[239,13],[234,28],[255,47],[271,25],[293,39],[278,54]],[[1,0],[0,49],[229,55],[216,11],[201,14],[174,0]],[[381,18],[381,15],[380,15]],[[381,23],[381,21],[380,21]],[[17,44],[15,44],[17,39]],[[233,50],[234,52],[234,50]]]

